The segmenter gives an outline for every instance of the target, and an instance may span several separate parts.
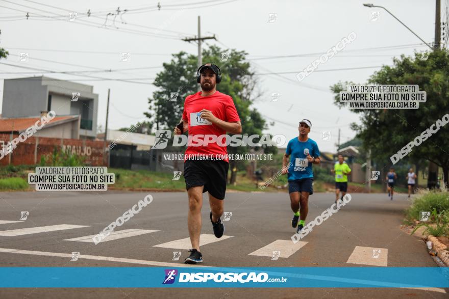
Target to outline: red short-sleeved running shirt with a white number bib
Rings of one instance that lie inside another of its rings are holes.
[[[237,122],[240,118],[237,114],[237,110],[234,105],[234,101],[229,95],[216,91],[213,95],[202,97],[201,91],[195,94],[189,95],[184,101],[183,120],[189,123],[189,139],[191,135],[206,135],[213,134],[217,137],[219,135],[226,134],[226,131],[210,124],[210,122],[199,118],[199,113],[203,109],[209,110],[212,114],[226,122]],[[198,138],[198,137],[197,137]],[[204,137],[198,138],[203,141]],[[197,143],[193,141],[193,143]],[[226,143],[223,138],[221,144]],[[185,157],[189,155],[226,155],[228,153],[226,146],[219,146],[216,142],[209,143],[207,146],[188,146],[185,152]],[[185,161],[186,159],[184,159]],[[224,161],[228,161],[228,158],[224,158]]]

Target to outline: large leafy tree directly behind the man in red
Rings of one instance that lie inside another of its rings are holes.
[[[220,62],[222,52],[229,52],[226,62]],[[217,46],[203,49],[203,61],[217,64],[221,69],[222,79],[217,90],[234,100],[243,134],[262,135],[262,130],[268,126],[260,113],[250,107],[261,95],[257,93],[258,81],[251,71],[250,63],[246,61],[246,55],[244,51],[225,50]],[[144,115],[156,124],[156,129],[172,130],[181,121],[185,98],[198,89],[197,57],[179,52],[173,54],[171,61],[163,66],[164,70],[157,74],[154,81],[159,90],[153,93],[152,98],[148,98],[149,111]],[[228,147],[229,154],[246,153],[248,150],[247,147]],[[264,148],[264,151],[275,153],[276,147]],[[230,160],[230,169],[233,170],[236,166],[236,161]],[[235,178],[235,172],[232,171],[231,183],[235,182]]]

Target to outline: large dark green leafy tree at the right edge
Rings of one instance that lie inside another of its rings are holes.
[[[427,60],[420,53],[414,57],[393,59],[393,66],[383,66],[371,75],[368,84],[381,85],[418,85],[420,91],[426,91],[427,102],[420,103],[414,110],[354,110],[361,115],[361,124],[352,124],[357,137],[363,140],[366,148],[378,160],[389,164],[389,157],[413,141],[423,130],[449,112],[449,52],[435,50]],[[341,83],[331,87],[335,93],[335,104],[339,102],[339,92],[353,83]],[[444,183],[449,184],[449,129],[447,126],[433,134],[406,156],[411,161],[427,159],[443,169]],[[387,162],[388,161],[388,162]]]

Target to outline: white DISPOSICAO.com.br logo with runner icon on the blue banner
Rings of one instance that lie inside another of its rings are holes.
[[[163,284],[172,284],[176,280],[178,271],[176,269],[165,269],[165,279]],[[269,278],[268,274],[261,272],[256,274],[256,272],[197,272],[197,273],[186,273],[180,272],[178,276],[179,283],[264,283],[264,282],[286,282],[288,278]]]

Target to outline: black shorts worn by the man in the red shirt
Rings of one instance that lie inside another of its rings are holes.
[[[204,186],[203,193],[209,192],[217,199],[224,199],[229,164],[223,160],[186,160],[184,179],[186,190]]]

